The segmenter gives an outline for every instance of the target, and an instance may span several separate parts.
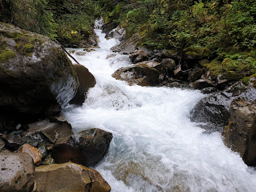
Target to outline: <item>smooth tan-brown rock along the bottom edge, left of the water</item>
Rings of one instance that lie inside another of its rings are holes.
[[[35,182],[36,191],[111,191],[98,171],[75,163],[37,167]]]

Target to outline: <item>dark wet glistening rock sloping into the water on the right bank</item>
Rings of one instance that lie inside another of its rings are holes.
[[[229,105],[237,97],[255,100],[256,89],[252,85],[245,86],[237,82],[227,89],[207,96],[198,102],[191,110],[191,120],[201,123],[200,127],[206,132],[222,132],[223,127],[228,124],[230,113]]]

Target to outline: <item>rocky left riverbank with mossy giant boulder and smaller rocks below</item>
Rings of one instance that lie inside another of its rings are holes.
[[[112,134],[74,134],[60,115],[83,103],[92,73],[49,38],[9,24],[0,23],[0,45],[0,191],[110,191],[85,166],[104,157]]]

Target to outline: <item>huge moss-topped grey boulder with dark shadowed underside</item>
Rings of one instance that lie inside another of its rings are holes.
[[[60,45],[0,23],[0,131],[60,114],[78,79]]]

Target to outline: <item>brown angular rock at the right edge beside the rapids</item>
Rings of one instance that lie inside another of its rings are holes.
[[[256,101],[232,101],[230,123],[224,127],[222,136],[225,145],[239,152],[248,166],[256,166]]]

